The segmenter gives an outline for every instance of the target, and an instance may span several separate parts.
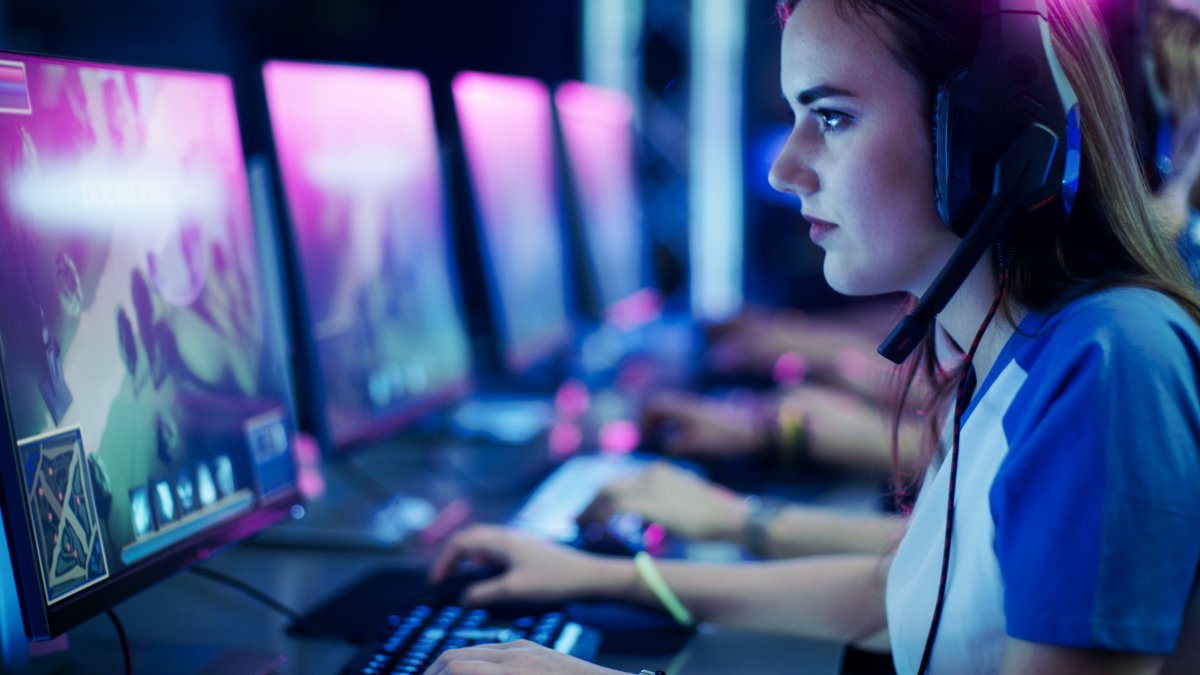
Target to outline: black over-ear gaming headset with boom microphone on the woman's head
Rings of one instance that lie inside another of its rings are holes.
[[[935,106],[937,213],[959,247],[878,352],[904,363],[994,245],[1050,238],[1079,186],[1075,91],[1050,41],[1045,0],[980,0],[979,47]]]

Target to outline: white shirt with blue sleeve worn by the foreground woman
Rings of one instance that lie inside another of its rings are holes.
[[[964,416],[930,673],[997,671],[1006,635],[1175,650],[1200,569],[1198,372],[1200,328],[1153,291],[1021,321]],[[888,575],[901,674],[917,671],[929,632],[948,490],[944,462]]]

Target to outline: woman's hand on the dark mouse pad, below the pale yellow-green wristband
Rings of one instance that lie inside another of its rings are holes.
[[[430,583],[450,579],[461,561],[504,568],[496,577],[467,586],[461,598],[467,605],[560,603],[596,591],[595,583],[611,577],[599,556],[488,525],[451,537],[430,569]]]

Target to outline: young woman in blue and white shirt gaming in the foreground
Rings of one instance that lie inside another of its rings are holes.
[[[1048,5],[1080,103],[1081,187],[1051,240],[1018,246],[1007,275],[985,257],[938,317],[943,356],[978,342],[978,384],[948,424],[960,430],[959,461],[931,464],[894,555],[660,563],[696,619],[890,647],[900,673],[918,671],[928,644],[931,673],[1195,665],[1171,655],[1200,639],[1200,301],[1150,216],[1090,4]],[[959,243],[935,209],[930,120],[940,83],[974,55],[979,6],[793,0],[787,10],[781,84],[796,125],[772,184],[802,199],[834,288],[919,295]],[[920,372],[935,389],[958,382]],[[496,527],[456,537],[433,579],[463,557],[506,567],[468,589],[468,603],[660,602],[629,561]],[[446,652],[431,673],[607,670],[518,641]]]

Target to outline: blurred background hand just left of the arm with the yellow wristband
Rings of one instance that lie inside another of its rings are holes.
[[[642,432],[659,438],[668,455],[701,460],[755,455],[769,442],[755,406],[683,393],[650,398],[642,406]]]

